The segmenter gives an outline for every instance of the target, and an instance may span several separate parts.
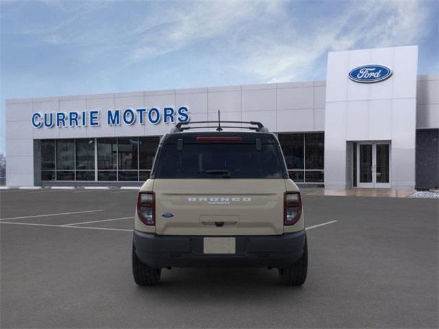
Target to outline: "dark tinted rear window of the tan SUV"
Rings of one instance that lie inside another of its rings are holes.
[[[154,178],[284,178],[281,147],[263,144],[161,145]]]

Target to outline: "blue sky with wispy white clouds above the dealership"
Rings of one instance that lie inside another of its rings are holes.
[[[439,73],[439,1],[0,0],[5,99],[325,80],[328,51],[418,45]]]

